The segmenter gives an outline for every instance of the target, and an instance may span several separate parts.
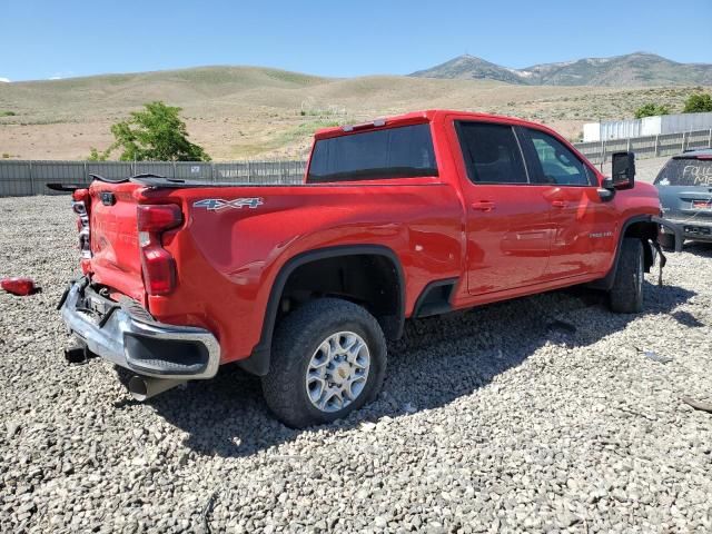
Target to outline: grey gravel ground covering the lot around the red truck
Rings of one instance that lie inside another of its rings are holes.
[[[412,323],[384,393],[291,431],[224,369],[151,400],[68,366],[66,197],[0,199],[0,532],[711,532],[712,247],[646,312],[568,290]],[[668,363],[662,363],[670,358]]]

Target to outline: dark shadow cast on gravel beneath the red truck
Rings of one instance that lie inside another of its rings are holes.
[[[641,315],[671,314],[690,324],[694,318],[689,314],[672,312],[693,295],[645,283]],[[437,408],[486,386],[546,344],[590,346],[641,315],[612,314],[603,294],[572,288],[408,322],[404,337],[389,344],[388,372],[378,399],[318,431]],[[259,379],[234,366],[212,380],[191,383],[149,403],[188,433],[185,444],[200,455],[249,456],[314,432],[278,423],[263,400]]]

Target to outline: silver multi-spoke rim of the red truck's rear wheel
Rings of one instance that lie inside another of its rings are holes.
[[[309,400],[320,412],[338,412],[354,403],[366,387],[370,353],[364,338],[338,332],[324,339],[307,367]]]

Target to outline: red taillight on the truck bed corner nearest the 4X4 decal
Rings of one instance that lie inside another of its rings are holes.
[[[144,284],[149,295],[166,295],[176,286],[176,260],[162,247],[162,233],[180,226],[182,214],[174,204],[137,208]]]

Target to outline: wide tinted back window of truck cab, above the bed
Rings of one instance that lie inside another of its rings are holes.
[[[437,176],[431,126],[412,125],[316,141],[308,184]]]

